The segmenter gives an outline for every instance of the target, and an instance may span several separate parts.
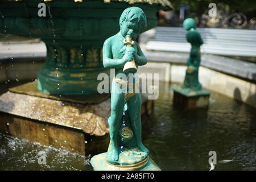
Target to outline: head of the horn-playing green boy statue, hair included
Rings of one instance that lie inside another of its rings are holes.
[[[139,7],[129,7],[123,11],[120,19],[120,32],[123,37],[129,36],[131,39],[137,39],[137,36],[147,27],[147,18]]]

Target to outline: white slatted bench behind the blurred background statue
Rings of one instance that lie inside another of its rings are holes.
[[[196,28],[204,44],[201,53],[224,56],[256,57],[256,30],[234,28]],[[183,27],[156,27],[154,41],[148,41],[150,51],[189,52],[191,44]]]

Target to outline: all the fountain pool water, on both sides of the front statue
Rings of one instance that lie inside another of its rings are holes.
[[[160,82],[154,117],[143,125],[143,143],[163,170],[256,170],[256,109],[211,93],[208,110],[185,111],[172,105],[171,84]],[[91,155],[30,143],[0,134],[0,170],[92,170]],[[46,165],[38,164],[39,151]],[[218,163],[232,160],[228,163]]]

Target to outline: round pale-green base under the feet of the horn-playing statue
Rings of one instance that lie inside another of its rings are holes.
[[[144,159],[142,162],[127,166],[109,164],[106,162],[105,157],[106,152],[95,155],[90,160],[95,171],[161,171],[150,157]]]

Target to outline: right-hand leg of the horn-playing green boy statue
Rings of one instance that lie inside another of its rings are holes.
[[[137,93],[127,101],[129,115],[131,119],[131,128],[133,129],[137,147],[142,152],[148,154],[148,149],[143,145],[141,138],[141,94]]]

